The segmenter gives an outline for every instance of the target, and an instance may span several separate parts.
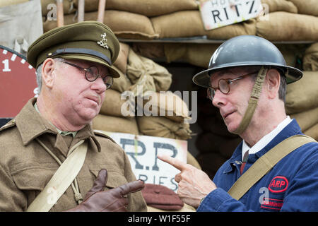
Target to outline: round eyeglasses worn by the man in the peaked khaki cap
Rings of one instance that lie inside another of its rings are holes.
[[[76,64],[72,64],[70,62],[64,61],[65,64],[69,64],[71,66],[75,66],[78,69],[82,69],[85,71],[85,78],[87,81],[93,82],[98,77],[102,78],[102,81],[106,85],[106,89],[109,89],[112,87],[112,83],[114,83],[114,78],[112,76],[100,76],[100,71],[98,70],[97,66],[89,66],[88,68],[82,68],[81,66],[78,66]]]

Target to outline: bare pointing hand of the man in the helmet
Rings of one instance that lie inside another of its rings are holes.
[[[168,155],[157,157],[181,171],[175,175],[175,181],[179,184],[177,194],[184,203],[197,208],[201,199],[216,189],[216,184],[202,170]]]

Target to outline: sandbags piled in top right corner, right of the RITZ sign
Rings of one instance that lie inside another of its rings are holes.
[[[269,11],[267,15],[257,18],[258,36],[271,41],[318,40],[316,0],[266,0],[266,4],[278,11]],[[279,5],[273,7],[273,4]]]

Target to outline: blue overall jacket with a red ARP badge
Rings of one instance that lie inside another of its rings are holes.
[[[243,174],[275,145],[290,136],[302,134],[293,119],[263,149],[250,154]],[[201,202],[197,211],[318,211],[318,143],[307,143],[283,157],[239,201],[227,191],[241,176],[242,143],[213,179],[217,189]]]

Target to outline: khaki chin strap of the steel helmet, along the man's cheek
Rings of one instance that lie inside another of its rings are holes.
[[[235,129],[235,131],[233,131],[232,133],[241,134],[247,129],[247,126],[249,126],[249,123],[252,120],[255,109],[257,108],[257,103],[259,102],[259,96],[261,95],[261,88],[263,86],[267,71],[268,69],[264,69],[264,66],[262,66],[261,69],[259,70],[259,73],[257,74],[257,79],[253,86],[251,97],[249,97],[249,105],[247,106],[244,117],[240,123],[240,126],[238,126],[237,129]]]

